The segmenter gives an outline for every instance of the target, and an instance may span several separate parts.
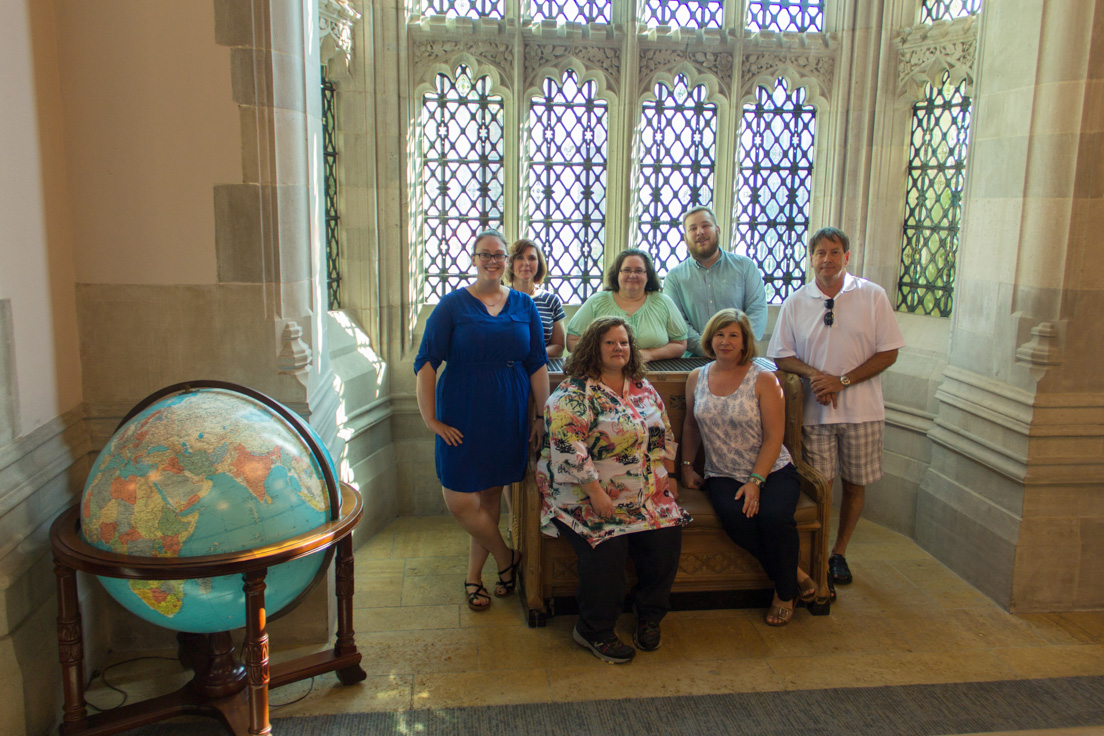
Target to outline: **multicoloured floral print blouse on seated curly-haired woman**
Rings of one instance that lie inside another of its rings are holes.
[[[559,536],[553,520],[597,546],[620,534],[690,523],[675,500],[664,459],[677,445],[659,393],[647,380],[626,381],[624,398],[601,381],[567,378],[544,408],[548,430],[537,463],[541,532]],[[594,512],[583,486],[597,480],[614,516]]]

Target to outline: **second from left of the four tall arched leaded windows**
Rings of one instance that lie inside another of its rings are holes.
[[[528,237],[544,250],[545,284],[582,303],[602,286],[608,106],[571,70],[542,92],[529,110]]]

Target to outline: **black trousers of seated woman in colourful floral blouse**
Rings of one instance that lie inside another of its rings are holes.
[[[682,527],[666,526],[644,532],[622,534],[605,540],[596,547],[556,521],[556,529],[575,550],[578,557],[578,632],[598,641],[614,632],[617,617],[624,610],[625,563],[633,558],[637,583],[633,588],[633,605],[641,621],[658,622],[671,607],[671,584],[679,572],[682,552]]]

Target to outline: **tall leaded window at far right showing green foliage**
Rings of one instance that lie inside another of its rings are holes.
[[[965,81],[927,85],[913,107],[898,309],[949,317],[966,183],[970,98]]]

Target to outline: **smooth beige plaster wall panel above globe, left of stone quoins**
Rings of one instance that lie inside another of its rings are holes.
[[[211,190],[242,148],[214,3],[56,7],[77,280],[214,282]]]

